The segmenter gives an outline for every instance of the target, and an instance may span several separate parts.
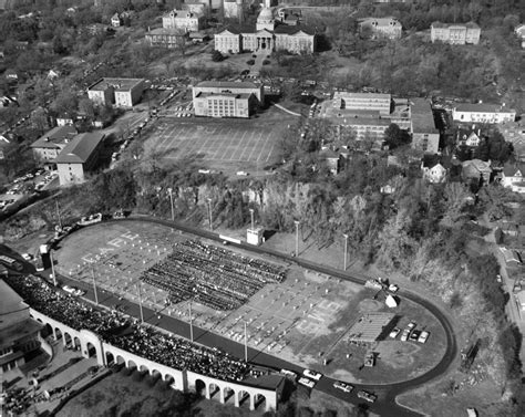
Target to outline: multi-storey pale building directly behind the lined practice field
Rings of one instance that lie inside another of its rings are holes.
[[[193,87],[196,116],[246,118],[264,100],[262,86],[254,83],[205,81]]]

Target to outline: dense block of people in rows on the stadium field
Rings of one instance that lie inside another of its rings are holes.
[[[224,248],[187,240],[146,270],[141,279],[178,303],[196,299],[215,310],[235,310],[268,282],[282,282],[286,269]]]

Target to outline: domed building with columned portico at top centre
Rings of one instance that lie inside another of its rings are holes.
[[[256,27],[229,27],[215,34],[215,50],[222,53],[243,51],[290,51],[292,53],[313,53],[316,34],[301,25],[280,24],[274,18],[274,11],[267,1],[260,11]]]

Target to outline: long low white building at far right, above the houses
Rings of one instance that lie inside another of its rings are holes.
[[[500,104],[459,104],[452,110],[452,119],[464,123],[507,123],[514,122],[516,111]]]

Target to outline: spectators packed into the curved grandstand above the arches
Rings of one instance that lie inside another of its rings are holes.
[[[38,312],[76,331],[91,330],[104,342],[162,365],[234,382],[253,368],[220,350],[161,333],[115,310],[94,309],[38,277],[7,277],[6,281]]]

